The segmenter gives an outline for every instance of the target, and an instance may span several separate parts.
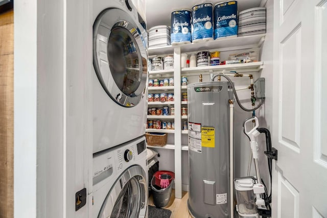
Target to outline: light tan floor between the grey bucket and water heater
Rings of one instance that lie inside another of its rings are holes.
[[[171,218],[192,218],[188,210],[189,192],[182,192],[182,199],[175,198],[175,189],[172,189],[172,196],[170,202],[164,209],[172,211]],[[149,205],[154,206],[152,195],[149,197]]]

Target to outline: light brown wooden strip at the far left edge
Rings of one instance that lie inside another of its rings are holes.
[[[14,207],[14,12],[0,13],[0,218]]]

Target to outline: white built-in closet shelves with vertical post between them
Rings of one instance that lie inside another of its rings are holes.
[[[181,107],[186,107],[187,102],[181,101],[181,92],[187,91],[187,86],[181,86],[181,77],[182,76],[197,76],[199,74],[209,75],[217,74],[219,72],[228,72],[231,70],[236,70],[240,73],[251,73],[260,72],[264,67],[263,61],[252,62],[252,63],[241,63],[241,64],[230,64],[230,65],[217,65],[217,66],[201,66],[201,67],[189,67],[181,68],[180,67],[180,55],[181,53],[197,53],[199,51],[208,50],[208,51],[220,51],[227,52],[233,50],[243,50],[251,49],[252,47],[261,47],[262,43],[265,40],[265,34],[258,34],[252,36],[242,36],[242,37],[233,37],[233,38],[221,38],[213,41],[192,43],[192,44],[182,44],[182,45],[168,45],[162,47],[153,47],[149,48],[148,54],[149,57],[155,56],[166,56],[174,55],[174,69],[168,70],[153,70],[149,71],[149,78],[174,78],[174,86],[165,86],[165,87],[149,87],[149,93],[152,91],[161,91],[174,92],[174,102],[150,102],[149,106],[157,105],[174,105],[175,115],[170,116],[171,119],[175,122],[175,130],[155,130],[147,129],[147,132],[165,132],[169,134],[174,134],[175,144],[166,144],[164,147],[157,146],[148,146],[149,148],[156,149],[172,149],[174,150],[174,159],[175,159],[175,196],[176,198],[181,198],[182,196],[182,165],[181,165],[181,155],[182,151],[188,151],[188,144],[181,144],[182,137],[187,137],[188,130],[182,130],[183,120],[187,120],[188,116],[181,116]],[[233,82],[237,82],[234,78],[230,78]],[[158,93],[158,92],[156,92]],[[153,117],[149,115],[148,117]],[[164,118],[164,116],[159,116]],[[160,119],[158,118],[158,119]],[[168,117],[167,117],[168,118]],[[186,187],[187,188],[187,187]],[[183,187],[183,189],[186,189]],[[186,189],[187,190],[187,189]]]

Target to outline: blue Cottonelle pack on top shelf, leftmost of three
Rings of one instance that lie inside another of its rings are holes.
[[[170,42],[172,45],[191,43],[191,11],[176,10],[171,14]]]

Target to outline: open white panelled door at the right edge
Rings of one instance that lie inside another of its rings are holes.
[[[273,217],[327,217],[327,0],[274,1]]]

